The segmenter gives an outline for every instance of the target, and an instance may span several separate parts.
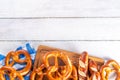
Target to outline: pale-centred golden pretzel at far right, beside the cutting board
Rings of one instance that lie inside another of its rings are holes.
[[[116,80],[120,80],[120,65],[115,60],[109,60],[101,67],[102,80],[108,80],[111,72],[116,72]]]

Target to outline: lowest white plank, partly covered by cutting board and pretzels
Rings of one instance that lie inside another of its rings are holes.
[[[9,51],[15,50],[18,46],[24,46],[26,42],[1,42],[0,52],[6,55]],[[68,41],[68,42],[30,42],[35,49],[39,45],[61,48],[81,53],[87,51],[90,55],[104,59],[115,59],[120,62],[120,42],[89,42],[89,41]]]

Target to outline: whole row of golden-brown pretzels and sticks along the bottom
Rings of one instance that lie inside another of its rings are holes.
[[[24,55],[24,58],[20,58]],[[5,75],[10,80],[24,80],[24,76],[30,73],[30,80],[109,80],[112,72],[116,73],[116,79],[120,80],[120,65],[115,60],[108,60],[104,65],[99,65],[94,60],[88,59],[88,53],[79,56],[78,66],[75,66],[69,57],[60,51],[51,51],[44,54],[42,64],[32,69],[32,60],[26,50],[11,51],[5,58],[5,65],[0,68],[0,80],[5,80]],[[50,63],[53,58],[54,64]],[[59,64],[61,60],[62,65]],[[26,64],[22,69],[15,69],[14,64]]]

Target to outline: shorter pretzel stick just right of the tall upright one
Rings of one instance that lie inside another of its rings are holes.
[[[98,65],[95,61],[90,60],[89,61],[89,71],[90,71],[90,80],[101,80],[100,73],[98,71]]]

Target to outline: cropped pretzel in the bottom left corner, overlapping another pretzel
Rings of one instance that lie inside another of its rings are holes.
[[[0,68],[0,80],[6,80],[5,75],[9,76],[10,80],[24,80],[22,75],[20,75],[19,72],[17,72],[14,68],[9,66],[3,66]]]

